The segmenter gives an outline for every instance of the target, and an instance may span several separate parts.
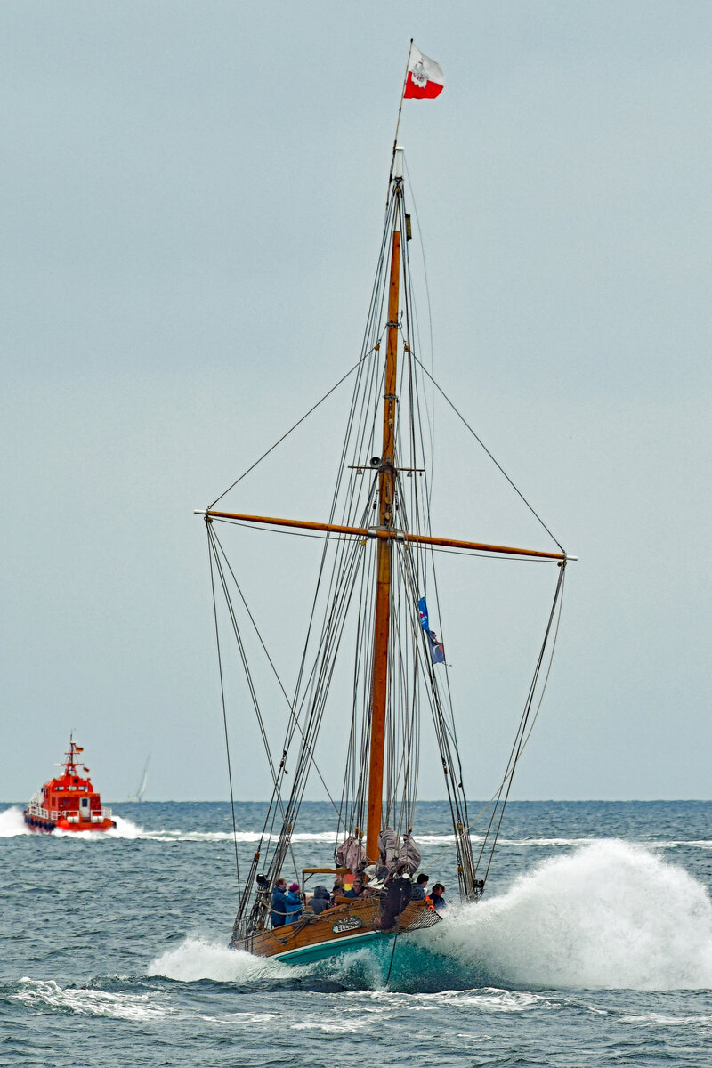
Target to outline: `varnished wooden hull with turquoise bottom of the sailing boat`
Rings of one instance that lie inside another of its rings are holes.
[[[318,916],[307,914],[296,924],[255,931],[248,938],[235,939],[231,944],[234,949],[242,949],[256,957],[306,963],[359,949],[375,940],[432,927],[440,923],[440,916],[425,902],[411,901],[390,930],[382,930],[380,921],[379,899],[366,897],[327,909]]]

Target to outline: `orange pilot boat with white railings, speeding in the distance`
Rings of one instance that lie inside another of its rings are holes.
[[[89,768],[77,760],[81,752],[81,745],[69,736],[66,759],[57,765],[64,768],[64,774],[45,783],[25,810],[25,822],[33,831],[108,831],[116,826],[111,808],[101,806],[101,798],[89,779]]]

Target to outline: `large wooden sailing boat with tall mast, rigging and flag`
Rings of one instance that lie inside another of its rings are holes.
[[[428,92],[428,75],[434,66],[411,50],[404,95],[417,95],[408,93],[411,81],[415,89],[420,84],[420,95],[437,95]],[[423,830],[417,812],[420,738],[422,724],[428,720],[434,727],[450,807],[460,898],[468,902],[481,896],[512,775],[548,677],[566,563],[572,559],[555,538],[556,548],[538,550],[433,532],[425,411],[428,396],[439,387],[418,352],[406,198],[404,150],[397,145],[396,130],[363,346],[355,365],[337,383],[341,387],[350,380],[352,391],[346,406],[335,486],[326,513],[312,518],[279,518],[217,507],[256,465],[207,508],[197,509],[208,537],[225,737],[227,740],[230,640],[244,675],[243,692],[257,718],[271,778],[260,842],[243,880],[238,865],[239,907],[231,945],[282,961],[308,962],[368,945],[395,947],[395,939],[409,939],[417,931],[427,938],[427,931],[441,922],[427,899],[417,899],[414,883],[422,860],[417,845],[418,829]],[[280,674],[279,650],[269,647],[260,628],[260,613],[274,616],[279,610],[276,606],[267,609],[262,601],[249,604],[244,580],[240,579],[240,568],[249,579],[255,566],[248,562],[246,540],[239,541],[248,531],[250,544],[255,531],[320,539],[311,611],[304,610],[308,617],[300,640],[297,677],[289,689]],[[238,541],[228,554],[231,536]],[[441,552],[537,561],[551,565],[554,576],[553,601],[534,678],[476,855],[457,747],[454,693],[444,646],[431,629],[428,606],[430,597],[430,608],[442,621],[436,580],[436,560]],[[251,647],[273,673],[284,701],[284,724],[278,739],[271,739],[267,731]],[[347,682],[342,681],[344,676]],[[242,721],[242,709],[240,717]],[[328,750],[330,768],[338,769],[341,796],[331,792],[330,776],[318,752],[330,720],[345,735],[342,761],[336,760],[333,748]],[[230,747],[227,759],[232,796]],[[300,866],[295,835],[314,774],[329,791],[334,807],[334,859],[329,865],[318,865],[312,854]],[[237,845],[235,854],[237,861]],[[294,871],[290,890],[297,907],[291,911],[281,910],[279,904],[284,898],[279,888],[284,885],[287,868]],[[307,904],[308,886],[314,888],[319,880],[335,882],[330,907],[321,911]]]

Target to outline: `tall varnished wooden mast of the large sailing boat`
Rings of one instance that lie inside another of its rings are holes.
[[[398,296],[400,284],[400,198],[402,197],[402,148],[395,150],[393,166],[393,239],[391,282],[385,350],[383,394],[383,449],[378,475],[379,527],[393,528],[395,501],[395,427],[396,372],[398,363]],[[374,623],[374,682],[370,711],[370,754],[368,764],[368,811],[366,815],[366,857],[378,860],[378,835],[383,806],[383,764],[385,752],[385,710],[389,696],[389,631],[391,624],[390,538],[378,539],[376,557],[376,617]]]

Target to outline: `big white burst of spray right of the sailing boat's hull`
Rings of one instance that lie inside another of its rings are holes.
[[[644,847],[596,842],[452,910],[429,947],[493,986],[708,989],[712,902]]]

